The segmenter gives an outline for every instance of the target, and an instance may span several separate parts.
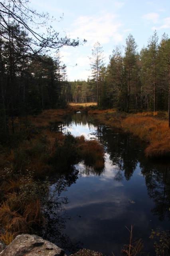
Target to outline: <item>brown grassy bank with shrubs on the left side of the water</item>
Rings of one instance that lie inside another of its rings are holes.
[[[1,144],[0,239],[6,244],[20,233],[35,234],[47,225],[51,175],[59,179],[82,161],[94,170],[104,168],[104,150],[96,140],[50,129],[52,123],[62,122],[76,110],[45,110],[37,116],[16,118],[15,133]]]

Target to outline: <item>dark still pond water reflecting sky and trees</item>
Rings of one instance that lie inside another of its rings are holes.
[[[134,224],[134,238],[142,238],[153,255],[151,229],[170,228],[170,164],[148,160],[138,138],[90,116],[68,116],[59,129],[96,138],[105,147],[105,170],[97,173],[78,164],[78,179],[61,193],[68,198],[65,209],[71,217],[65,233],[83,248],[116,256],[128,242],[125,226]]]

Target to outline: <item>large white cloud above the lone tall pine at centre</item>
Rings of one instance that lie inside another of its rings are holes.
[[[109,42],[119,43],[123,35],[118,31],[122,23],[117,21],[117,16],[100,12],[95,16],[80,16],[73,23],[71,37],[85,38],[87,44],[93,45],[96,41],[101,44]]]

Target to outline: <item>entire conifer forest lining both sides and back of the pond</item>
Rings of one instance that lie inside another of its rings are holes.
[[[130,34],[124,53],[117,47],[104,64],[103,48],[92,50],[91,77],[68,82],[59,48],[79,41],[59,38],[47,28],[46,37],[28,25],[28,19],[47,18],[11,1],[0,12],[0,113],[1,132],[14,132],[14,117],[36,114],[43,109],[63,108],[69,102],[97,102],[104,108],[168,110],[170,94],[170,39],[156,31],[148,45],[137,51]],[[25,9],[24,9],[25,8]],[[25,12],[25,14],[24,14]],[[21,18],[19,18],[19,14]],[[36,22],[35,22],[36,23]],[[43,22],[42,22],[43,24]],[[49,49],[51,52],[49,52]]]

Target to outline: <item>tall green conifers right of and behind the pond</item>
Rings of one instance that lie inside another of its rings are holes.
[[[137,52],[130,34],[124,54],[117,47],[104,65],[103,49],[94,45],[91,58],[92,76],[71,83],[74,102],[98,102],[101,107],[123,111],[168,110],[170,87],[170,38],[163,34],[160,43],[156,31],[148,45]]]

